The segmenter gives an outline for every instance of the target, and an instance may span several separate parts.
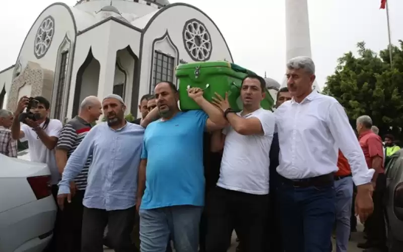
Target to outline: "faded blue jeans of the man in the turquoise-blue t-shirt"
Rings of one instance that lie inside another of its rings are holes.
[[[197,252],[203,207],[173,206],[140,210],[142,252],[165,252],[169,239],[176,252]]]

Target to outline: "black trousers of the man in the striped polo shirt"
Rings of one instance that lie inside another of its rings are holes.
[[[61,212],[62,237],[59,239],[58,252],[80,252],[81,251],[81,229],[83,225],[83,200],[85,191],[77,190],[72,202],[64,203]]]

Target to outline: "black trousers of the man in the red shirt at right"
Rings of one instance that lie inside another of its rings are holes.
[[[367,239],[374,247],[384,250],[386,247],[386,230],[384,219],[384,193],[386,189],[386,176],[378,174],[375,190],[372,195],[374,211],[365,222]]]

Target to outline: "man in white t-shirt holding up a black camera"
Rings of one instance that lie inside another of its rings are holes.
[[[57,170],[53,149],[57,144],[62,124],[59,120],[49,119],[48,113],[50,103],[46,98],[37,96],[34,97],[34,100],[36,101],[32,102],[32,105],[36,107],[32,107],[30,112],[33,113],[32,116],[34,116],[36,120],[27,118],[21,125],[19,117],[23,112],[25,112],[25,108],[30,103],[30,99],[27,96],[21,97],[17,105],[17,110],[14,113],[11,133],[13,139],[22,142],[28,141],[31,161],[41,162],[48,165],[51,174],[50,184],[52,185],[52,194],[56,201],[58,191],[57,183],[60,180],[60,173]],[[56,249],[56,237],[59,233],[57,229],[59,216],[60,213],[58,211],[53,238],[45,251],[58,251]]]

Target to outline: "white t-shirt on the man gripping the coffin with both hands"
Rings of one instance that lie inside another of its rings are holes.
[[[275,116],[271,111],[259,108],[243,117],[258,118],[264,134],[244,136],[232,127],[223,130],[226,138],[217,185],[232,191],[265,195],[269,188],[269,152]]]

